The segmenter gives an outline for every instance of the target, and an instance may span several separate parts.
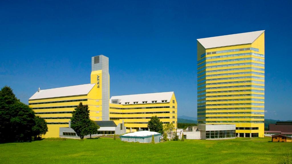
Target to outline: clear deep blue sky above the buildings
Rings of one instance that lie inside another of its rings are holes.
[[[109,57],[110,95],[174,91],[197,117],[196,39],[266,30],[265,118],[292,117],[291,1],[0,1],[0,86],[24,103],[90,83]]]

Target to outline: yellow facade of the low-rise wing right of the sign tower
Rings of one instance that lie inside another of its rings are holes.
[[[146,104],[109,104],[109,119],[116,124],[122,123],[127,132],[135,132],[139,128],[148,130],[147,123],[150,117],[157,116],[164,124],[177,123],[177,102],[173,93],[169,102],[157,102]]]

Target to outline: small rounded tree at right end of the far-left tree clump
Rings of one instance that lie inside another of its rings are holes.
[[[34,136],[34,140],[37,138],[41,138],[41,135],[45,135],[48,131],[47,122],[44,118],[40,116],[34,117],[34,126],[32,127],[32,132]]]

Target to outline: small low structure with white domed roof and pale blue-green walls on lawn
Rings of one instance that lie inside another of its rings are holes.
[[[125,142],[151,143],[152,135],[154,136],[155,142],[160,142],[160,137],[161,137],[160,133],[150,132],[147,130],[127,133],[127,134],[121,135],[120,138],[121,138],[121,141],[125,141]]]

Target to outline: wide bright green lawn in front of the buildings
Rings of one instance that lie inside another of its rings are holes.
[[[112,138],[0,144],[0,163],[279,163],[292,143],[270,138],[185,140],[157,144]]]

